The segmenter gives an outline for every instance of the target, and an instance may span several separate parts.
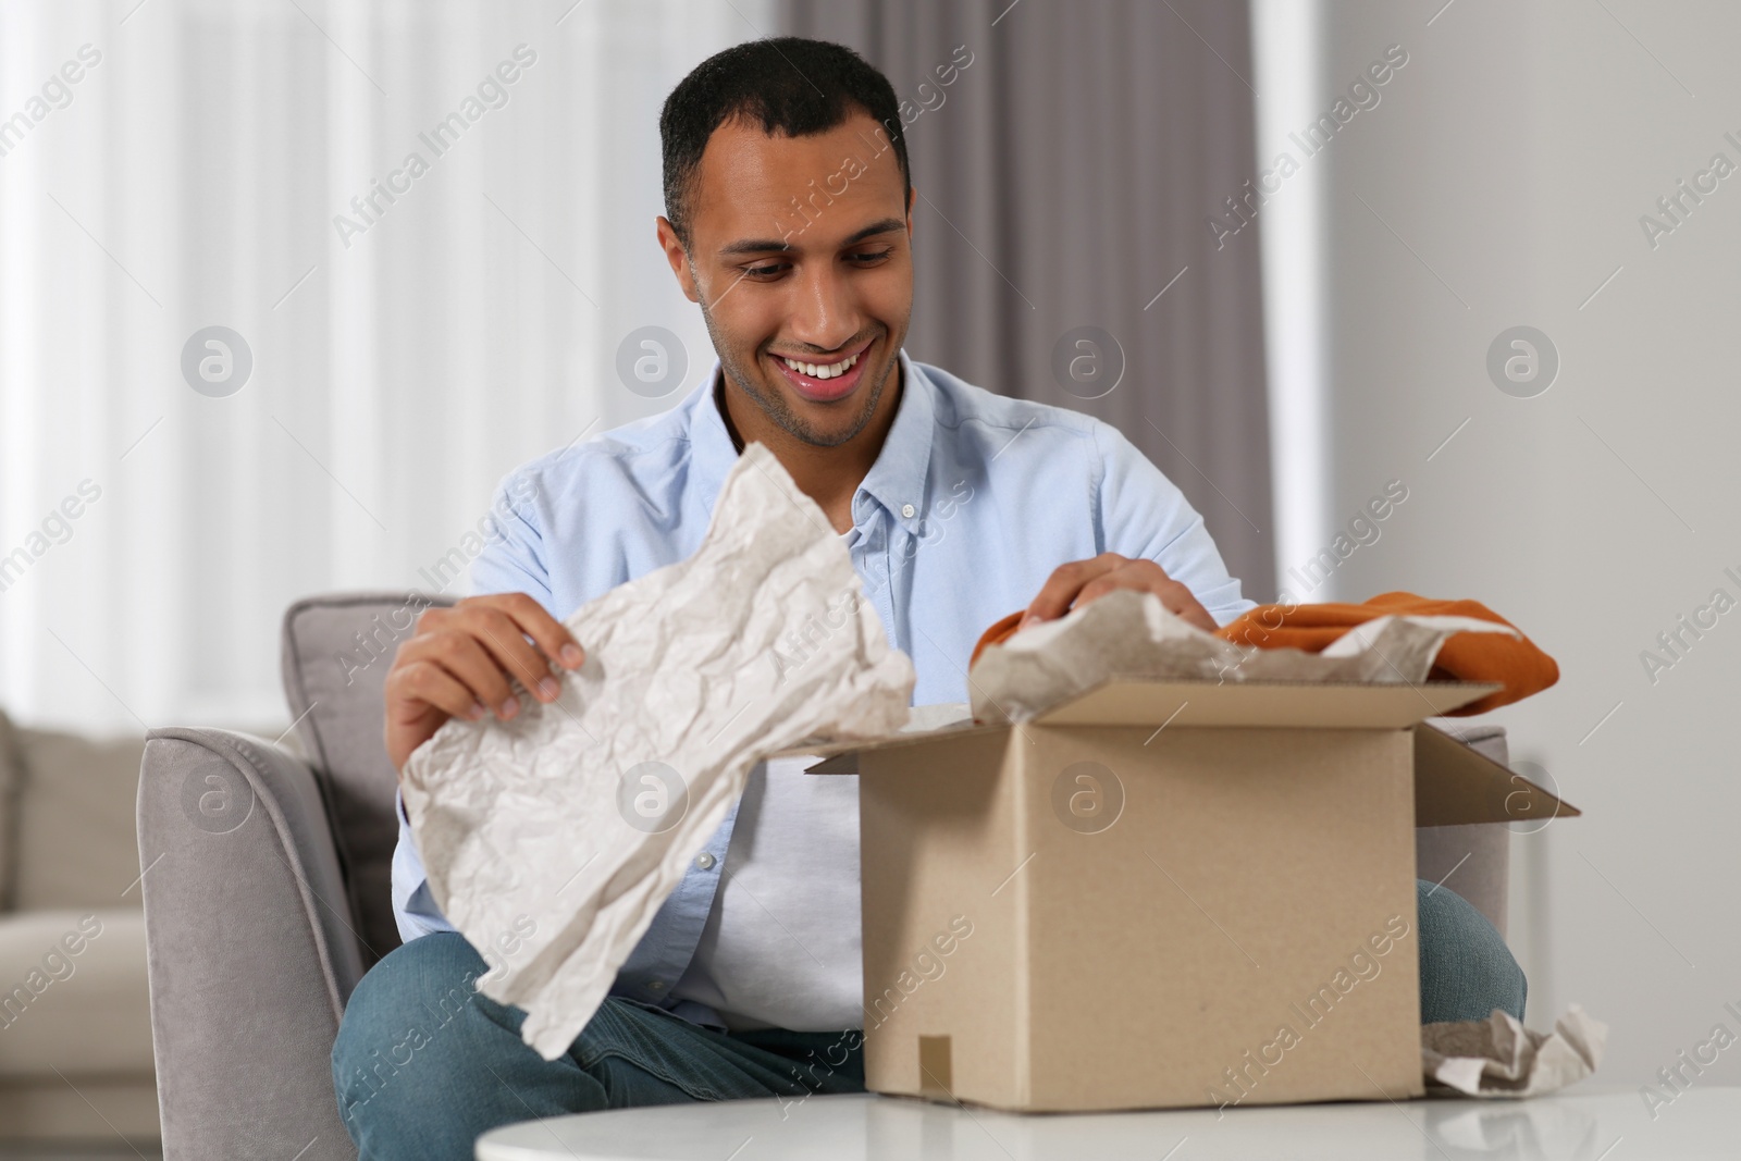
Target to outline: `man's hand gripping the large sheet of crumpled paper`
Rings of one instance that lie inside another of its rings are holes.
[[[404,769],[449,717],[519,714],[510,674],[540,701],[555,701],[562,686],[552,665],[580,668],[585,660],[561,621],[522,592],[428,609],[387,674],[387,757]]]

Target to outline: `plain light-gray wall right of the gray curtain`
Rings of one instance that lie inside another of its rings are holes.
[[[1741,1034],[1741,609],[1654,682],[1640,661],[1715,588],[1741,601],[1741,172],[1654,249],[1640,228],[1713,153],[1741,165],[1741,5],[1442,5],[1318,7],[1316,111],[1386,45],[1408,63],[1306,162],[1328,512],[1285,543],[1327,543],[1400,479],[1382,540],[1311,599],[1476,597],[1558,658],[1555,689],[1497,714],[1584,809],[1515,839],[1513,943],[1529,1022],[1584,1004],[1612,1025],[1603,1079],[1642,1084],[1713,1025]],[[1532,399],[1485,371],[1516,324],[1562,359]],[[1741,1048],[1697,1079],[1724,1083]]]

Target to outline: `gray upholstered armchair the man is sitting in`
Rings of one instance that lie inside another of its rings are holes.
[[[357,980],[399,945],[381,684],[432,604],[447,602],[378,592],[291,606],[284,691],[299,747],[193,728],[146,742],[139,862],[167,1158],[357,1158],[329,1055]],[[1502,729],[1455,733],[1506,761]],[[1419,830],[1419,874],[1449,876],[1502,933],[1508,841],[1502,823]]]

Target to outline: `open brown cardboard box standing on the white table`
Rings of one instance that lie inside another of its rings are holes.
[[[822,747],[811,773],[860,778],[869,1088],[1419,1095],[1414,829],[1577,813],[1422,724],[1492,689],[1114,679]]]

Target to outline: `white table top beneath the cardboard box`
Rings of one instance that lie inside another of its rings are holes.
[[[1650,1119],[1637,1090],[1522,1102],[1408,1100],[1013,1116],[891,1097],[623,1109],[526,1121],[479,1161],[1687,1161],[1741,1158],[1741,1088],[1694,1088]],[[1623,1142],[1616,1147],[1616,1142]]]

